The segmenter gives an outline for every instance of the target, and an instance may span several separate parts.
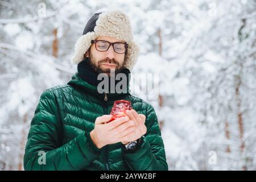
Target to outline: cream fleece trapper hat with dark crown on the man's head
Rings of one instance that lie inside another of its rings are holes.
[[[99,36],[110,36],[126,42],[128,48],[125,68],[133,68],[139,55],[139,47],[133,40],[130,20],[122,11],[96,13],[89,19],[82,36],[76,42],[72,62],[79,64],[84,60],[84,54],[92,45],[92,40],[96,40]]]

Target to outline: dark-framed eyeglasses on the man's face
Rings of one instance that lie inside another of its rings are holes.
[[[95,43],[95,48],[97,51],[105,52],[108,51],[110,46],[113,46],[116,53],[125,53],[128,47],[128,44],[122,42],[108,42],[106,40],[92,40],[92,43]]]

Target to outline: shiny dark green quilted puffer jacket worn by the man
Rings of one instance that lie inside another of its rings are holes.
[[[94,121],[110,113],[114,100],[129,100],[134,110],[146,115],[147,133],[133,152],[120,142],[98,149],[90,138]],[[168,166],[153,107],[130,93],[99,94],[76,73],[67,85],[42,93],[28,133],[24,169],[168,170]]]

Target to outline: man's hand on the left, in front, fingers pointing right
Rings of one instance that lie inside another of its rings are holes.
[[[117,118],[112,122],[112,115],[102,115],[96,118],[94,129],[90,132],[90,138],[97,148],[102,148],[107,144],[120,142],[120,138],[135,131],[134,121],[129,121],[129,117]],[[106,123],[106,124],[105,124]]]

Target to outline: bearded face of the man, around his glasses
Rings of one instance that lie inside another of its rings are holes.
[[[109,36],[100,36],[96,40],[105,40],[110,43],[121,42]],[[106,73],[110,75],[110,69],[114,69],[115,73],[120,72],[125,64],[125,53],[117,53],[114,51],[113,46],[110,46],[108,51],[101,52],[96,49],[96,43],[93,43],[89,51],[85,53],[89,57],[89,64],[97,73]]]

